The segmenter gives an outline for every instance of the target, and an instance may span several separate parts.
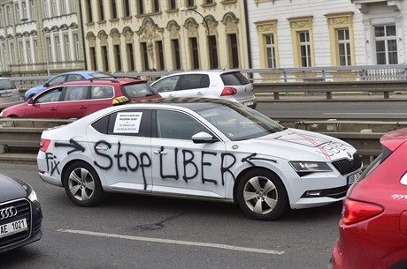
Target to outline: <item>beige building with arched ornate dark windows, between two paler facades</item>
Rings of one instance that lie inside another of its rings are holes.
[[[246,1],[81,1],[87,68],[249,68]]]

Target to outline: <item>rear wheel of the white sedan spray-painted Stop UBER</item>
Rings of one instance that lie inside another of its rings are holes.
[[[66,195],[76,205],[93,206],[104,198],[99,176],[86,162],[70,164],[63,175],[63,183]]]

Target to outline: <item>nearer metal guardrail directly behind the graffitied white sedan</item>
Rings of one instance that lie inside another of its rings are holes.
[[[35,152],[39,149],[42,131],[74,119],[0,119],[0,153],[19,148],[19,153]],[[340,138],[357,148],[364,163],[369,163],[381,153],[380,137],[395,129],[407,127],[407,122],[374,122],[374,121],[292,121],[280,120],[284,126],[307,131],[317,131]]]

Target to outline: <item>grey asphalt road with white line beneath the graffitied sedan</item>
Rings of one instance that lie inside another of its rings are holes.
[[[293,211],[277,221],[246,218],[237,205],[111,195],[83,208],[42,183],[35,164],[0,163],[42,204],[42,239],[0,254],[1,269],[326,268],[342,204]]]

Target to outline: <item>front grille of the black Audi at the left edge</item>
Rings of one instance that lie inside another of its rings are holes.
[[[0,205],[0,210],[9,206],[17,208],[17,215],[6,219],[0,220],[0,226],[6,223],[10,223],[15,220],[27,220],[27,230],[19,232],[17,234],[8,235],[0,239],[0,248],[12,243],[18,243],[19,241],[27,239],[31,235],[31,205],[26,199],[19,199],[12,202],[7,202]]]

